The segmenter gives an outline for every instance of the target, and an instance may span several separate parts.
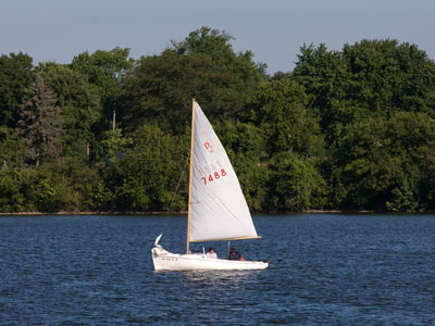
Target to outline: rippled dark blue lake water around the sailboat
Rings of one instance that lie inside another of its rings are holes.
[[[435,216],[254,224],[262,240],[233,244],[269,269],[156,273],[154,238],[183,252],[185,216],[0,216],[0,325],[435,325]]]

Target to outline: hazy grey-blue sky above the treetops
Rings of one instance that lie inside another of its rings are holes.
[[[303,43],[410,42],[435,59],[433,0],[0,0],[0,54],[70,63],[84,51],[161,53],[202,26],[225,30],[268,73],[289,72]]]

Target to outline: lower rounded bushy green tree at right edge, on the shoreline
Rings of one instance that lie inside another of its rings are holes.
[[[335,202],[344,208],[417,211],[431,205],[435,121],[398,112],[349,126],[339,142]]]

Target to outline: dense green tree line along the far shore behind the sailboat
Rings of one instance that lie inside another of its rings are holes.
[[[268,75],[232,39],[202,27],[137,60],[121,48],[69,64],[1,55],[0,212],[186,210],[192,98],[251,211],[435,209],[423,50],[303,45],[291,72]]]

